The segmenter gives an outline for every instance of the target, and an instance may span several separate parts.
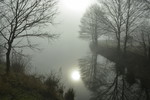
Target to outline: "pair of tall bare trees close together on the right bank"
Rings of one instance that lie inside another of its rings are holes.
[[[106,31],[115,33],[118,50],[123,38],[123,50],[126,53],[129,38],[145,13],[145,3],[137,0],[104,0],[101,3],[108,19],[105,21],[109,27]]]

